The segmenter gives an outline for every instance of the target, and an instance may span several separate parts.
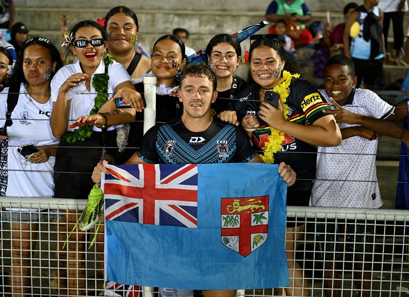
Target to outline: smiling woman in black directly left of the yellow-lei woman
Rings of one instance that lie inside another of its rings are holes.
[[[210,68],[217,78],[217,99],[212,103],[212,110],[215,114],[227,110],[230,98],[234,98],[247,85],[244,79],[234,75],[239,67],[242,47],[239,40],[229,34],[218,34],[206,47],[207,60]],[[248,52],[245,53],[243,62],[248,59]]]

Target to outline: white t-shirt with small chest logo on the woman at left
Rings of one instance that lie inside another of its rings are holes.
[[[25,93],[25,94],[24,94]],[[0,127],[4,127],[7,112],[8,88],[0,93]],[[19,154],[17,148],[26,144],[47,146],[58,144],[59,140],[53,136],[50,126],[50,114],[53,103],[49,100],[45,104],[33,103],[29,100],[23,84],[20,86],[19,101],[11,113],[13,124],[7,127],[8,134],[8,180],[7,196],[20,197],[52,197],[54,194],[53,168],[56,157],[50,156],[47,162],[31,163]],[[39,110],[34,105],[41,110]]]

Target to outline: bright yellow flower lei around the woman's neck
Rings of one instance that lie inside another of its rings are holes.
[[[285,104],[285,102],[287,101],[287,97],[289,95],[288,88],[290,87],[291,79],[293,77],[298,78],[299,74],[291,74],[288,71],[284,70],[282,72],[282,77],[279,84],[273,89],[273,92],[280,94],[280,101],[284,109],[284,118],[286,120],[288,119],[288,112],[290,111],[290,108],[287,104]],[[264,154],[260,155],[260,157],[261,159],[263,159],[264,163],[273,164],[274,154],[282,148],[281,143],[284,140],[284,133],[273,127],[269,128],[271,130],[271,135],[267,137],[268,141],[266,141],[264,143],[264,147],[261,148]]]

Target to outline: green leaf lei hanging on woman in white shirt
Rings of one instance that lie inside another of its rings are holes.
[[[108,80],[110,76],[108,75],[108,65],[112,64],[114,61],[111,55],[107,55],[104,58],[105,70],[106,72],[101,74],[94,74],[93,76],[93,87],[96,91],[95,96],[95,105],[93,109],[90,111],[90,114],[95,114],[99,111],[99,109],[104,105],[105,102],[108,100]],[[79,127],[79,129],[75,129],[74,131],[67,131],[63,136],[63,139],[68,143],[74,143],[77,141],[84,141],[85,139],[91,137],[93,134],[93,126],[87,125]]]

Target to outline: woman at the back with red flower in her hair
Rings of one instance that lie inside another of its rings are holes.
[[[100,21],[108,34],[108,53],[115,61],[124,65],[132,78],[147,73],[150,70],[150,59],[134,49],[139,34],[136,14],[126,6],[116,6]]]

